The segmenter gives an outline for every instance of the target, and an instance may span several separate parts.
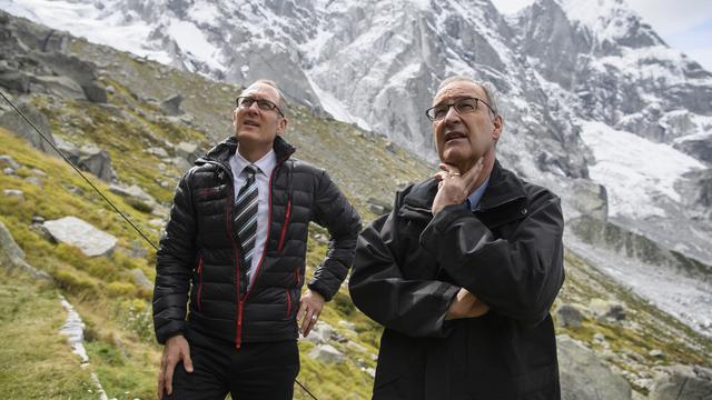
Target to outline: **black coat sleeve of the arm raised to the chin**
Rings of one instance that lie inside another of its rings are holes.
[[[548,314],[564,281],[564,219],[560,199],[543,189],[522,212],[526,217],[504,240],[469,210],[448,206],[423,231],[421,246],[492,310],[535,324]]]

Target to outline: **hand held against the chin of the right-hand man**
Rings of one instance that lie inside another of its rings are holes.
[[[441,182],[437,184],[437,194],[433,200],[433,216],[438,213],[445,206],[462,204],[467,199],[467,196],[476,189],[475,184],[483,166],[484,157],[481,157],[469,170],[461,174],[457,167],[441,163],[441,170],[434,176]]]

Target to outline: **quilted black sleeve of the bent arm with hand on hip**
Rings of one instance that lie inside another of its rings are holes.
[[[354,262],[360,217],[324,170],[318,178],[314,206],[314,220],[328,230],[330,240],[326,257],[307,287],[329,301]]]

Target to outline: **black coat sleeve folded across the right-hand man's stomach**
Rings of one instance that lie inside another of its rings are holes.
[[[358,238],[348,289],[366,316],[409,337],[446,337],[445,313],[458,287],[437,280],[406,279],[397,254],[407,252],[398,242],[398,204],[389,216],[375,220]]]

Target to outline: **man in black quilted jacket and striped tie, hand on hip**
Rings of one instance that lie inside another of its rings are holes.
[[[159,398],[291,399],[297,321],[306,337],[346,278],[360,219],[323,169],[291,157],[283,109],[275,82],[245,89],[235,137],[176,190],[154,292]],[[309,221],[332,240],[300,296]]]

